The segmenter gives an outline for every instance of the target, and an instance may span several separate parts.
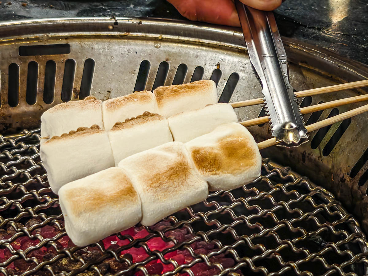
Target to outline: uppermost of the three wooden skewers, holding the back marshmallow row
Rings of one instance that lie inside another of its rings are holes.
[[[301,97],[306,97],[306,96],[313,96],[313,95],[319,95],[319,94],[324,94],[324,93],[341,91],[345,89],[360,88],[364,86],[368,86],[368,79],[365,79],[364,81],[354,81],[354,82],[348,82],[346,84],[337,84],[337,85],[332,85],[332,86],[308,89],[308,90],[304,90],[300,92],[295,92],[295,95],[297,98],[301,98]],[[242,100],[240,102],[230,103],[230,105],[233,108],[238,108],[238,107],[244,107],[244,106],[261,105],[262,103],[264,103],[264,100],[262,98],[258,98],[258,99],[251,99],[251,100]]]

